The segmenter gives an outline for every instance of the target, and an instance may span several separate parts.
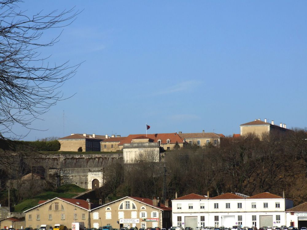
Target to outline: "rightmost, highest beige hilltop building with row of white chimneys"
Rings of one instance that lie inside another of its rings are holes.
[[[274,121],[271,121],[271,123],[269,123],[267,122],[267,119],[261,121],[260,118],[258,120],[255,119],[255,121],[247,122],[240,125],[241,136],[246,136],[249,133],[253,133],[260,139],[262,139],[263,134],[269,134],[271,132],[286,133],[292,132],[292,130],[287,129],[286,124],[280,123],[278,126],[274,124]]]

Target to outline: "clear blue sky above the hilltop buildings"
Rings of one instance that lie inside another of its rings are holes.
[[[306,1],[25,1],[83,10],[50,62],[77,64],[72,98],[24,140],[70,133],[239,133],[256,118],[306,126]],[[59,30],[46,31],[48,39]],[[63,122],[64,111],[64,122]],[[63,124],[64,123],[64,124]],[[64,127],[64,128],[63,128]],[[26,131],[16,128],[19,134]]]

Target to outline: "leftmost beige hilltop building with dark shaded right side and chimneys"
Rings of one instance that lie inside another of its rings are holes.
[[[108,135],[101,136],[94,134],[77,134],[72,133],[70,136],[65,136],[58,141],[61,144],[60,151],[78,151],[81,147],[83,152],[100,151],[100,141],[108,138]]]

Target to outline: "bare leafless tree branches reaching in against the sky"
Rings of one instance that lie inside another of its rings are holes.
[[[80,13],[73,8],[61,12],[43,11],[27,15],[19,0],[0,1],[0,139],[21,137],[13,126],[31,129],[52,105],[65,99],[60,87],[75,73],[79,64],[48,63],[39,48],[58,42],[55,36],[44,42],[45,30],[65,27]]]

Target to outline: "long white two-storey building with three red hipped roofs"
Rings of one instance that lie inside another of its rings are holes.
[[[293,201],[270,193],[251,197],[226,193],[207,198],[197,194],[172,201],[173,226],[281,226],[286,224],[286,209]]]

